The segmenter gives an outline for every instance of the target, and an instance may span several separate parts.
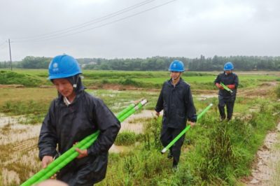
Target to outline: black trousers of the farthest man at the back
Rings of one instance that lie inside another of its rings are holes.
[[[235,99],[225,100],[219,97],[218,109],[222,120],[225,119],[225,106],[227,107],[227,119],[231,120],[233,107],[235,106]]]

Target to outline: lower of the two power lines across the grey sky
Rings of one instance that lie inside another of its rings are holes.
[[[97,29],[97,28],[105,27],[106,25],[113,24],[115,22],[120,22],[122,20],[126,20],[126,19],[128,19],[130,17],[134,17],[134,16],[139,15],[141,13],[145,13],[145,12],[148,12],[148,11],[153,10],[155,8],[159,8],[160,6],[165,6],[166,4],[172,3],[173,1],[176,1],[176,0],[167,1],[166,3],[162,3],[162,4],[158,5],[158,6],[153,6],[152,8],[148,8],[146,10],[143,10],[143,11],[139,12],[139,13],[134,13],[132,15],[120,18],[118,20],[115,20],[115,21],[112,21],[112,22],[107,22],[105,24],[101,24],[101,25],[99,25],[97,27],[92,27],[92,28],[89,28],[89,29],[83,29],[82,31],[76,31],[76,32],[73,32],[71,34],[66,34],[66,35],[62,35],[62,36],[48,36],[48,37],[45,37],[45,38],[37,38],[37,39],[33,39],[31,41],[22,41],[22,42],[34,42],[34,41],[40,42],[40,41],[47,41],[47,40],[51,40],[51,39],[55,39],[55,38],[63,38],[63,37],[66,37],[66,36],[72,36],[74,34],[80,34],[80,33],[83,33],[85,31],[90,31],[92,29]],[[20,43],[20,41],[16,41],[15,43]]]

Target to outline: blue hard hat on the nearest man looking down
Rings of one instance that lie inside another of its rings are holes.
[[[57,55],[48,66],[48,79],[68,78],[82,73],[76,59],[69,55]]]

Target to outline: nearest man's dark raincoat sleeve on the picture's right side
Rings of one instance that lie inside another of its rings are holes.
[[[93,115],[100,134],[97,141],[87,149],[87,154],[97,156],[102,152],[109,151],[120,130],[120,122],[101,99],[97,99],[94,102]]]

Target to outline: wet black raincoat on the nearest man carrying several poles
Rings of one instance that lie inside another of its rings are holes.
[[[62,95],[52,101],[41,127],[39,157],[54,157],[57,151],[62,154],[97,130],[99,137],[87,149],[88,156],[74,159],[57,173],[57,179],[69,185],[93,185],[106,176],[108,151],[120,130],[120,122],[101,99],[91,96],[83,87],[69,106]]]

